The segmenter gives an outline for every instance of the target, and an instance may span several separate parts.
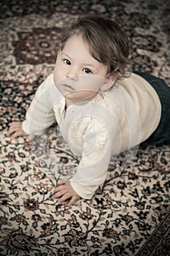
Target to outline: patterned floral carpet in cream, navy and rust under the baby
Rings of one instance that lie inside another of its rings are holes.
[[[0,255],[170,255],[169,146],[140,146],[126,170],[120,154],[93,199],[69,208],[51,198],[53,171],[70,175],[78,159],[55,126],[34,145],[7,138],[53,71],[62,29],[83,13],[117,20],[133,68],[170,84],[168,1],[2,0],[0,12]]]

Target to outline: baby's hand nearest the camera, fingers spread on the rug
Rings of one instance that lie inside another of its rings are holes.
[[[58,203],[63,203],[67,199],[71,198],[68,203],[68,206],[72,206],[77,200],[80,199],[80,196],[72,188],[70,181],[59,181],[58,187],[55,188],[53,199],[60,197]]]

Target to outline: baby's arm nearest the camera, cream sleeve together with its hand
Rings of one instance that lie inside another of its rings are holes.
[[[87,149],[93,148],[93,150],[88,153],[84,148],[77,172],[70,181],[60,181],[58,187],[54,189],[53,198],[58,198],[58,203],[70,199],[68,206],[72,206],[80,197],[91,199],[98,186],[107,178],[112,141],[110,140],[109,143],[108,132],[102,124],[99,127],[99,124],[97,126],[99,138],[96,140],[96,146],[93,140],[95,135],[90,132],[86,136],[85,143],[90,145]]]

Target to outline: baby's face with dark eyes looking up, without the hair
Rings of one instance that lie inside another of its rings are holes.
[[[93,98],[103,89],[107,66],[94,59],[81,35],[72,36],[58,52],[54,80],[61,94],[72,103]]]

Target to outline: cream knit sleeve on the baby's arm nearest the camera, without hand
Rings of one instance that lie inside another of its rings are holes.
[[[98,186],[107,178],[113,141],[117,152],[120,148],[120,132],[117,130],[117,124],[107,129],[100,121],[96,121],[95,127],[95,130],[90,129],[86,133],[80,165],[70,179],[75,192],[85,199],[92,198]]]

